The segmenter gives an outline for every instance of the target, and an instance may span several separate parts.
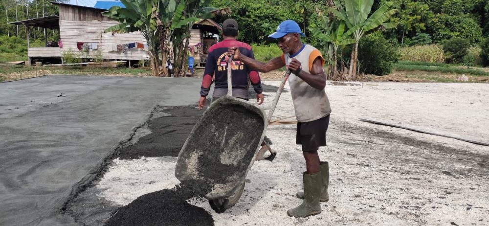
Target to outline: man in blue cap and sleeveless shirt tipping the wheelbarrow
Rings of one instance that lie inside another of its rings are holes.
[[[297,23],[291,20],[280,23],[277,30],[269,35],[276,39],[283,51],[282,56],[262,63],[240,54],[236,47],[229,47],[228,54],[260,72],[268,72],[286,66],[289,76],[290,93],[297,117],[296,144],[302,145],[307,171],[304,172],[304,191],[297,197],[304,199],[299,206],[289,209],[293,217],[307,217],[321,212],[319,202],[328,202],[329,167],[320,161],[317,150],[326,146],[326,130],[331,113],[330,102],[324,90],[326,75],[321,52],[311,45],[303,44],[305,36]]]

